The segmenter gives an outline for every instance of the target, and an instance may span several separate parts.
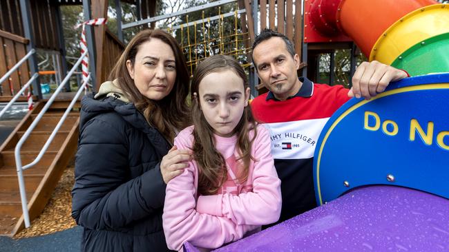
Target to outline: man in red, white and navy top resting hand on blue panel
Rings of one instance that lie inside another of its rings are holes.
[[[271,153],[283,197],[280,220],[316,207],[313,158],[316,141],[330,116],[351,97],[369,100],[390,81],[408,74],[377,61],[362,63],[348,91],[341,85],[314,84],[298,78],[300,59],[292,42],[272,30],[263,30],[252,47],[253,63],[269,92],[256,97],[251,108],[271,135]]]

